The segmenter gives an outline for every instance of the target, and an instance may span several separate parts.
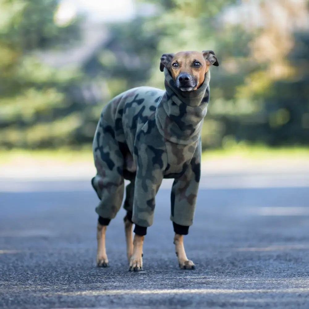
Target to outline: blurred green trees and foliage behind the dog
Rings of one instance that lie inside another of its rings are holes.
[[[0,0],[0,149],[91,145],[110,98],[213,49],[204,149],[309,144],[308,1]],[[91,146],[90,146],[91,148]]]

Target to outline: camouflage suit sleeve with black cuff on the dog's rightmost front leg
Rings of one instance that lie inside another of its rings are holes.
[[[174,180],[171,190],[171,221],[177,234],[188,234],[193,224],[197,191],[201,176],[201,141],[194,156],[180,178]]]

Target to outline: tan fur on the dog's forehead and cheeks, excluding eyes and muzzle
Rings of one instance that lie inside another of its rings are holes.
[[[206,61],[203,54],[195,51],[188,52],[179,52],[176,53],[171,61],[174,63],[177,61],[179,64],[179,68],[170,67],[171,74],[174,80],[176,80],[177,76],[180,73],[188,73],[194,76],[197,79],[197,87],[193,90],[196,90],[204,81],[205,73],[208,71],[210,67],[210,62]],[[198,61],[201,63],[201,66],[194,67],[193,63]]]

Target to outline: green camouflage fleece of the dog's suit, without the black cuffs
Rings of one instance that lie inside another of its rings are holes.
[[[164,68],[166,91],[137,87],[104,108],[95,132],[97,175],[92,185],[101,200],[96,212],[112,219],[121,207],[132,221],[151,226],[155,196],[163,178],[174,178],[171,220],[190,226],[201,173],[201,128],[209,102],[209,71],[195,91],[180,91]]]

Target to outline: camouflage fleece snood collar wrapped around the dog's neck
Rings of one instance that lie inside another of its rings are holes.
[[[181,91],[169,71],[164,68],[165,93],[158,103],[155,119],[159,132],[168,141],[188,145],[200,137],[209,102],[210,72],[194,91]]]

